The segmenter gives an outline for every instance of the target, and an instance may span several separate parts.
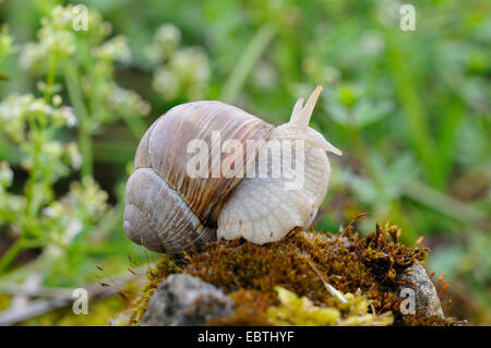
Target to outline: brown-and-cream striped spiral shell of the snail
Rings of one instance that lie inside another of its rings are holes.
[[[179,105],[147,130],[136,149],[134,172],[125,189],[124,231],[139,244],[156,252],[181,254],[216,239],[216,217],[225,197],[240,178],[192,178],[187,145],[203,140],[212,148],[212,131],[220,141],[264,140],[272,124],[219,101]],[[254,154],[243,154],[247,165]],[[221,153],[220,161],[235,154]],[[208,163],[212,154],[208,155]]]

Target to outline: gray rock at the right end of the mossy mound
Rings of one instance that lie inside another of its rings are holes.
[[[415,262],[410,267],[406,269],[405,274],[397,276],[398,280],[410,281],[411,284],[406,284],[400,286],[399,296],[404,299],[409,299],[408,288],[414,292],[415,308],[416,311],[427,310],[427,315],[438,315],[444,317],[442,305],[440,303],[436,289],[433,283],[428,277],[427,271],[419,263]]]

